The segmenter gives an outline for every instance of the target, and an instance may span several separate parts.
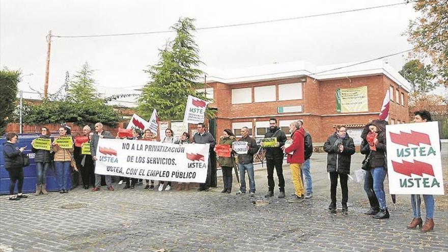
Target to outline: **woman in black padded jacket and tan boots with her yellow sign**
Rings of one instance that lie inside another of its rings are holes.
[[[32,151],[36,153],[34,161],[36,162],[36,196],[39,194],[48,194],[46,189],[47,182],[47,170],[51,165],[50,157],[50,131],[47,127],[42,127],[41,135],[34,139],[31,143],[33,146]]]

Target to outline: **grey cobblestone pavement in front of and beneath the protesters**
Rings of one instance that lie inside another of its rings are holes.
[[[443,165],[446,170],[446,156]],[[349,214],[341,215],[339,209],[333,215],[327,210],[325,155],[313,156],[312,174],[314,197],[297,204],[277,195],[263,198],[264,170],[256,172],[255,198],[235,195],[236,181],[232,194],[220,193],[220,187],[210,192],[158,192],[143,186],[123,190],[115,184],[114,192],[78,187],[67,194],[29,194],[17,202],[2,196],[0,251],[448,250],[446,209],[436,211],[434,232],[407,230],[412,218],[408,195],[400,195],[394,210],[387,194],[390,219],[375,220],[362,214],[367,197],[360,184],[350,181]],[[285,166],[289,193],[290,178]]]

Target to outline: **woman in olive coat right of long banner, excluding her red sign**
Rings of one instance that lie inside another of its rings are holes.
[[[230,129],[225,129],[222,132],[222,136],[219,139],[220,145],[229,146],[230,150],[232,150],[232,143],[235,142],[235,135],[232,133]],[[216,152],[216,147],[215,147]],[[231,193],[232,192],[232,169],[233,164],[235,163],[235,157],[232,155],[232,151],[230,153],[230,157],[221,157],[218,156],[218,163],[221,165],[222,171],[222,180],[224,182],[224,189],[222,189],[222,193]]]

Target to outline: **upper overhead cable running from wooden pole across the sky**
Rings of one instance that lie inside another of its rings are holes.
[[[408,4],[408,3],[420,2],[420,1],[423,1],[423,0],[407,1],[407,2],[402,2],[402,3],[397,3],[397,4],[380,5],[380,6],[373,6],[373,7],[360,8],[360,9],[352,9],[352,10],[345,10],[345,11],[337,11],[337,12],[321,13],[321,14],[314,14],[314,15],[306,15],[306,16],[300,16],[300,17],[290,17],[290,18],[273,19],[273,20],[265,20],[265,21],[258,21],[258,22],[248,22],[248,23],[236,23],[236,24],[227,24],[227,25],[218,25],[218,26],[208,26],[208,27],[197,28],[196,30],[197,31],[199,31],[199,30],[211,30],[211,29],[236,27],[236,26],[243,26],[243,25],[272,23],[272,22],[282,22],[282,21],[289,21],[289,20],[297,20],[297,19],[304,19],[304,18],[311,18],[311,17],[328,16],[328,15],[342,14],[342,13],[348,13],[348,12],[365,11],[365,10],[372,10],[372,9],[378,9],[378,8],[391,7],[391,6],[405,5],[405,4]],[[51,35],[51,37],[57,37],[57,38],[93,38],[93,37],[115,37],[115,36],[162,34],[162,33],[173,33],[173,32],[174,31],[156,31],[156,32],[143,32],[143,33],[118,33],[118,34],[74,35],[74,36]]]

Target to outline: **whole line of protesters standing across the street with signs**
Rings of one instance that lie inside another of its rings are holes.
[[[426,110],[416,111],[414,113],[414,122],[430,122],[431,115]],[[365,212],[367,215],[372,215],[375,219],[389,218],[389,211],[385,200],[384,180],[387,175],[387,159],[386,159],[386,134],[385,127],[387,122],[384,120],[370,120],[364,127],[360,146],[361,154],[365,154],[365,160],[362,166],[365,170],[364,189],[370,203],[370,209]],[[277,126],[277,120],[271,118],[269,120],[269,129],[261,141],[261,147],[257,145],[256,139],[249,135],[249,128],[241,128],[241,137],[236,137],[231,129],[225,129],[220,132],[222,135],[218,141],[210,132],[207,132],[204,123],[197,124],[198,132],[192,137],[188,132],[183,132],[182,135],[175,136],[173,130],[170,128],[165,130],[165,136],[160,139],[163,144],[171,144],[178,146],[185,146],[188,144],[208,144],[209,154],[217,155],[217,162],[222,171],[223,188],[222,193],[231,193],[233,188],[233,169],[238,167],[238,175],[240,179],[240,187],[236,192],[237,195],[248,193],[251,197],[256,193],[256,181],[254,174],[254,156],[260,152],[260,148],[265,150],[266,167],[267,167],[267,181],[268,191],[266,198],[273,197],[276,193],[279,199],[286,197],[285,181],[283,175],[283,163],[286,155],[286,162],[289,164],[291,170],[291,182],[294,185],[294,192],[288,199],[291,203],[303,203],[313,197],[312,177],[310,173],[310,158],[313,154],[313,142],[310,133],[305,130],[303,121],[295,121],[289,125],[290,139],[280,127]],[[48,194],[46,188],[46,174],[47,171],[54,165],[57,174],[57,181],[60,193],[68,193],[71,189],[69,187],[69,180],[71,176],[72,167],[80,171],[82,178],[82,185],[84,189],[89,189],[93,186],[92,191],[99,191],[102,184],[102,176],[104,176],[108,191],[114,191],[112,186],[111,175],[104,175],[96,173],[98,163],[100,162],[98,156],[98,144],[100,139],[116,139],[124,138],[127,140],[141,140],[155,142],[156,135],[149,129],[141,131],[134,129],[132,136],[116,136],[103,129],[102,123],[96,123],[95,129],[92,130],[90,126],[82,128],[80,136],[85,137],[83,143],[76,144],[69,141],[69,145],[63,142],[64,139],[70,136],[70,128],[62,126],[58,130],[59,136],[56,139],[50,137],[48,128],[41,128],[41,135],[33,141],[32,151],[35,153],[36,162],[36,193]],[[7,142],[3,148],[3,155],[5,157],[5,167],[10,175],[10,198],[15,201],[27,198],[22,193],[23,186],[23,166],[24,158],[22,152],[25,147],[17,148],[16,142],[18,135],[16,133],[8,133]],[[35,141],[48,142],[49,148],[35,148]],[[102,140],[101,140],[102,141]],[[120,141],[120,140],[114,140]],[[349,188],[347,185],[350,175],[351,156],[355,153],[355,145],[353,138],[347,133],[347,128],[344,125],[335,125],[334,133],[328,136],[327,141],[323,145],[323,150],[327,153],[326,171],[329,176],[330,189],[330,204],[328,206],[329,212],[336,214],[337,211],[337,189],[338,179],[342,191],[341,205],[342,214],[348,214],[348,198]],[[90,151],[90,152],[89,152]],[[188,154],[187,154],[188,155]],[[200,183],[198,191],[209,191],[211,187],[211,159],[210,155],[207,160],[202,160],[207,166],[205,181]],[[204,158],[203,158],[204,159]],[[199,158],[198,158],[199,161]],[[277,175],[278,192],[275,190],[274,170]],[[246,184],[246,173],[248,184]],[[123,189],[134,189],[136,185],[143,185],[143,179],[138,179],[135,176],[119,177],[119,185],[123,185]],[[153,190],[154,180],[146,180],[145,189]],[[158,191],[172,189],[172,180],[159,180]],[[18,193],[15,194],[15,186],[17,184]],[[188,182],[179,182],[181,189],[188,189]],[[143,188],[143,187],[142,187]],[[425,221],[421,214],[421,197],[420,195],[411,195],[410,202],[412,207],[413,218],[407,228],[413,229],[417,226],[421,228],[422,232],[431,231],[434,228],[434,197],[433,195],[423,195],[426,208]]]

